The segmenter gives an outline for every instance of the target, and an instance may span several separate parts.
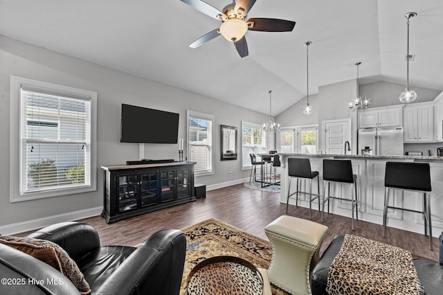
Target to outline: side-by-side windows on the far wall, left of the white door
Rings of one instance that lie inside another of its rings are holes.
[[[277,138],[277,150],[287,153],[316,154],[318,144],[317,136],[317,125],[282,129],[280,136]]]

